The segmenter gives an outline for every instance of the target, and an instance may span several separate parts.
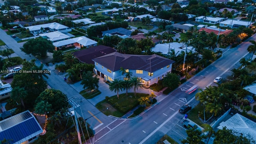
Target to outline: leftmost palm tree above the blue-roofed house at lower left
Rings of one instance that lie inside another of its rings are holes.
[[[12,89],[11,98],[16,101],[20,100],[23,108],[25,108],[23,99],[26,98],[27,95],[28,93],[24,88],[20,88],[19,86],[17,86]]]

